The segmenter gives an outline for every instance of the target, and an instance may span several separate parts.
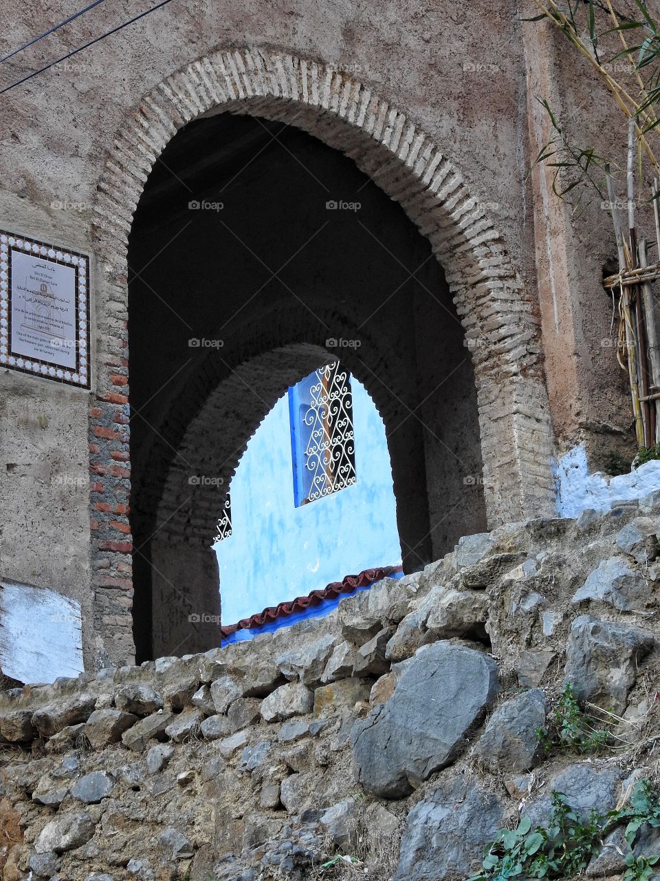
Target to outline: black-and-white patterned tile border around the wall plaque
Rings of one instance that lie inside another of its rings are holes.
[[[11,352],[11,252],[33,254],[76,272],[76,369]],[[0,230],[0,366],[64,385],[90,388],[90,258],[19,233]]]

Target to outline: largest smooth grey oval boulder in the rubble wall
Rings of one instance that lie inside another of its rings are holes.
[[[353,726],[353,759],[363,788],[400,798],[448,765],[497,686],[497,665],[483,652],[451,642],[419,651],[392,698]]]

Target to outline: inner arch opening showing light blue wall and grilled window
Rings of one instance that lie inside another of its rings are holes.
[[[400,566],[385,424],[341,361],[282,395],[228,489],[214,544],[225,632],[346,575]]]

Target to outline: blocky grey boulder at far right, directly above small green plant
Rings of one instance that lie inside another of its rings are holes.
[[[637,666],[653,645],[649,633],[581,615],[570,628],[564,682],[579,700],[621,714]]]

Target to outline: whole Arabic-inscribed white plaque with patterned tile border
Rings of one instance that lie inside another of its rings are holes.
[[[90,387],[89,257],[0,231],[0,365]]]

